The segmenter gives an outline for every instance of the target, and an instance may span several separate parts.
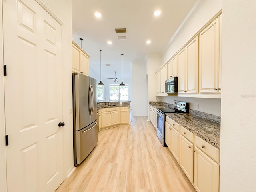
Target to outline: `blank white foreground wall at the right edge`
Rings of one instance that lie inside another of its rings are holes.
[[[220,192],[256,190],[255,10],[223,1]]]

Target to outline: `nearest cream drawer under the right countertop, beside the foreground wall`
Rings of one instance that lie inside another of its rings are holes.
[[[220,150],[214,147],[212,144],[206,142],[205,140],[201,139],[197,135],[195,136],[194,145],[197,146],[202,152],[208,155],[217,163],[220,163]]]

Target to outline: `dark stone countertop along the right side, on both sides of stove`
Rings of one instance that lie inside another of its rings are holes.
[[[165,108],[164,106],[154,106]],[[220,149],[220,124],[188,113],[166,113],[166,116]]]

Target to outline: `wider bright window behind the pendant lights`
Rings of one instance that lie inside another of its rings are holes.
[[[110,85],[109,86],[110,101],[128,101],[129,86]]]

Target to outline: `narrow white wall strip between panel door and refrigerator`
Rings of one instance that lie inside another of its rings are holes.
[[[62,93],[63,93],[63,149],[64,149],[64,179],[74,170],[73,160],[73,115],[68,114],[72,108],[72,14],[71,1],[45,0],[44,3],[64,22],[62,26],[63,44],[63,68],[62,68]]]

